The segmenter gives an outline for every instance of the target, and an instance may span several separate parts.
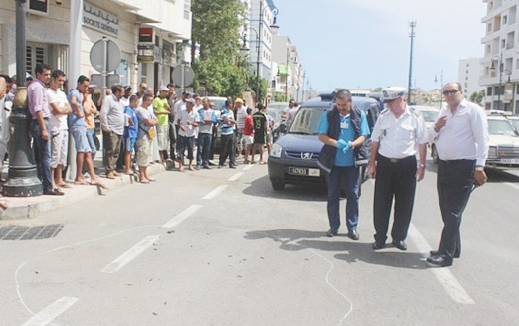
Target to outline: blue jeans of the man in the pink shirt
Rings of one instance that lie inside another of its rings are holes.
[[[31,136],[34,138],[33,150],[34,159],[36,160],[36,168],[38,170],[38,178],[43,182],[43,190],[52,190],[52,178],[50,177],[50,161],[52,159],[52,136],[50,134],[49,120],[45,120],[49,139],[44,140],[42,137],[42,127],[37,120],[31,121]]]

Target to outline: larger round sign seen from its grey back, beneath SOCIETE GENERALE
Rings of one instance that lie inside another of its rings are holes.
[[[111,73],[121,63],[121,49],[116,42],[103,36],[90,50],[90,63],[100,73]]]

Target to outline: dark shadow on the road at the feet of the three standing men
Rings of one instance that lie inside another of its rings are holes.
[[[294,229],[248,231],[245,239],[257,240],[270,238],[279,243],[279,248],[289,251],[315,249],[322,251],[343,251],[334,257],[348,263],[365,262],[368,264],[385,265],[412,270],[424,270],[428,268],[419,252],[388,251],[392,249],[389,244],[387,249],[374,251],[372,243],[363,243],[349,238],[345,234],[328,238],[325,232],[304,231]],[[344,241],[343,239],[348,239]]]

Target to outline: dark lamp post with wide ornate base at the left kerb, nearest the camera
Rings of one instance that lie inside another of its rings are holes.
[[[16,75],[17,89],[10,116],[15,125],[9,145],[9,173],[3,187],[4,196],[30,197],[43,194],[42,181],[38,178],[34,153],[31,149],[27,88],[25,87],[26,45],[25,17],[26,0],[16,2]]]

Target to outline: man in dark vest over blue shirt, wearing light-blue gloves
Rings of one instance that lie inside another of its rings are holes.
[[[351,107],[351,93],[348,90],[336,91],[334,98],[335,104],[324,112],[317,128],[319,140],[324,143],[319,166],[327,172],[330,230],[326,236],[337,235],[339,230],[339,196],[341,186],[344,186],[348,236],[358,240],[360,168],[356,161],[360,159],[359,149],[370,135],[370,129],[364,112]]]

